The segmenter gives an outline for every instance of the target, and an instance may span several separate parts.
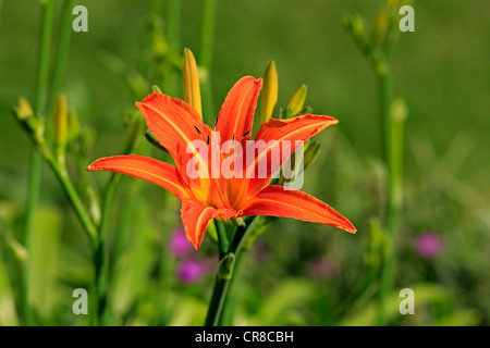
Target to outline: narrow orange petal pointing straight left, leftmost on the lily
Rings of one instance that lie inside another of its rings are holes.
[[[99,159],[87,171],[108,171],[131,175],[169,190],[180,200],[187,197],[185,184],[175,166],[148,157],[128,154]]]

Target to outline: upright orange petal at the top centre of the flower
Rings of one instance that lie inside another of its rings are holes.
[[[257,97],[262,87],[262,79],[252,76],[241,78],[230,90],[221,107],[216,130],[220,132],[221,144],[233,138],[250,138]]]

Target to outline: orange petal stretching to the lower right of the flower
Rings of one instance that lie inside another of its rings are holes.
[[[335,210],[305,192],[271,185],[250,199],[243,215],[271,215],[310,221],[355,233],[353,224]]]

